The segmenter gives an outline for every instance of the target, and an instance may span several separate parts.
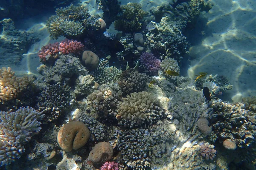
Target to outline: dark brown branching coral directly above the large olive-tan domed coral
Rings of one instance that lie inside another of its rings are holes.
[[[146,74],[139,73],[135,69],[128,69],[122,72],[118,85],[123,96],[126,96],[127,94],[143,91],[148,80],[149,77]]]

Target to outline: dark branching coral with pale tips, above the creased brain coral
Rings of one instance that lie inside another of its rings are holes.
[[[70,87],[65,84],[47,85],[38,96],[38,110],[46,114],[48,121],[57,119],[66,111],[70,111]]]

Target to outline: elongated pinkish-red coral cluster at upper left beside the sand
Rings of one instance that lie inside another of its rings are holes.
[[[77,54],[79,55],[84,50],[84,45],[76,40],[65,39],[61,42],[45,45],[38,52],[39,58],[46,62],[48,55],[50,58],[57,59],[60,54]]]

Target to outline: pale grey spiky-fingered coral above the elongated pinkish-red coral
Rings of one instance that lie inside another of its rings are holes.
[[[60,24],[60,29],[68,36],[78,36],[83,34],[84,31],[84,27],[81,23],[69,20],[62,22]]]

